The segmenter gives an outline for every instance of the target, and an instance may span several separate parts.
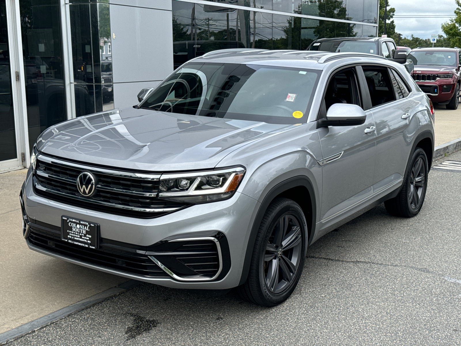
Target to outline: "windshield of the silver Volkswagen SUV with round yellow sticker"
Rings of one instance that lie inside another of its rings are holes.
[[[140,107],[271,124],[299,124],[307,120],[320,72],[189,63],[157,87]]]

